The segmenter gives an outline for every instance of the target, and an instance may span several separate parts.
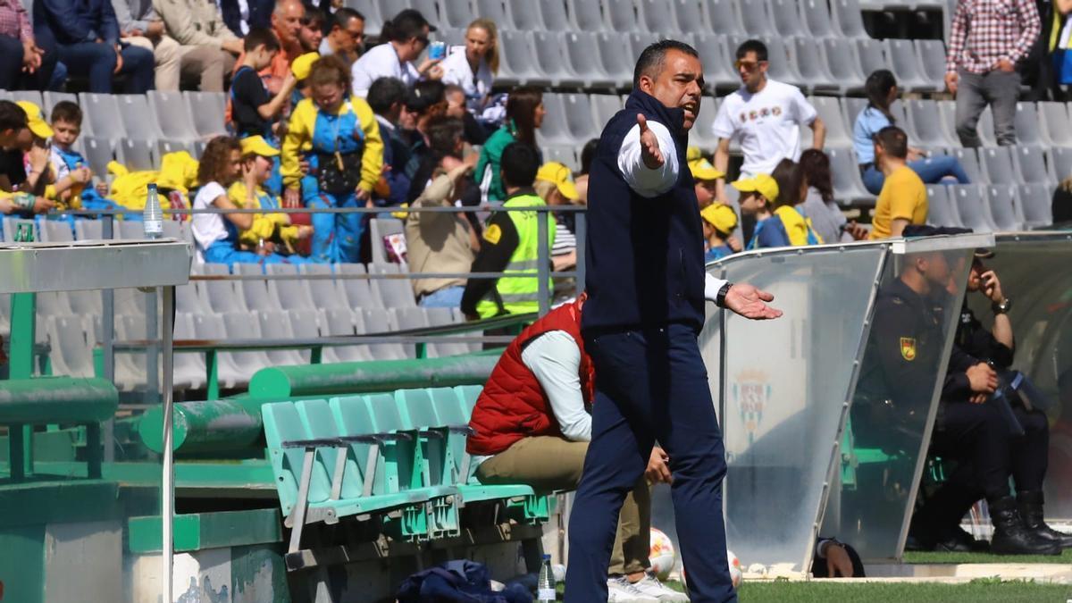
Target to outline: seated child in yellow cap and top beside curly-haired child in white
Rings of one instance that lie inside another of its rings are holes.
[[[242,138],[241,145],[242,177],[227,189],[227,197],[235,207],[278,209],[279,197],[268,194],[264,183],[272,175],[279,149],[268,144],[263,136]],[[252,218],[253,223],[239,235],[240,248],[256,250],[262,255],[286,255],[292,264],[306,261],[296,255],[295,248],[300,239],[313,234],[312,226],[292,225],[287,214],[255,214]]]

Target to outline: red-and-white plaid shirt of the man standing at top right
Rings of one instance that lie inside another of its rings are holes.
[[[1040,31],[1034,0],[958,0],[946,71],[986,73],[1000,59],[1015,63],[1027,56]]]

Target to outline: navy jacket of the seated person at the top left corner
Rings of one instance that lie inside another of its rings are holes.
[[[58,44],[94,42],[119,44],[119,21],[111,0],[35,0],[33,35]]]

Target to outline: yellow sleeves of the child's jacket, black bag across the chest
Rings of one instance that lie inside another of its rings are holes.
[[[358,187],[372,192],[384,166],[384,141],[379,137],[379,124],[372,113],[372,107],[364,99],[351,97],[347,102],[364,132],[364,155],[361,157],[361,181]],[[346,104],[343,102],[339,106],[338,115],[346,111]],[[302,99],[291,112],[291,123],[283,138],[283,157],[280,165],[283,186],[288,189],[298,188],[301,181],[300,153],[313,148],[313,128],[319,111],[312,99]]]

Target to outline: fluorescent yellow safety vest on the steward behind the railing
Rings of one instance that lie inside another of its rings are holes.
[[[534,194],[518,195],[503,204],[503,207],[545,206],[547,204],[544,203],[544,200]],[[510,263],[506,265],[505,271],[526,273],[526,275],[500,277],[491,291],[476,305],[476,312],[481,319],[497,317],[501,313],[500,300],[503,304],[502,309],[510,314],[539,311],[539,280],[536,277],[539,271],[539,225],[537,220],[540,214],[537,211],[508,211],[507,216],[513,221],[513,227],[518,231],[518,247],[510,255]],[[551,247],[554,246],[555,223],[554,216],[550,212],[547,212],[546,217],[547,262],[550,262]],[[547,291],[549,295],[553,289],[551,279],[548,279]]]

